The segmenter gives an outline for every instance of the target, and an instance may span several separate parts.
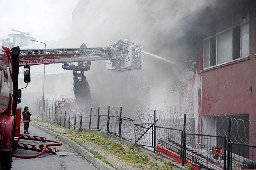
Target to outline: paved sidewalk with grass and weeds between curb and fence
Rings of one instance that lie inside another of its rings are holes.
[[[103,162],[109,164],[117,170],[168,170],[169,168],[159,167],[156,162],[150,162],[146,155],[136,151],[128,151],[128,146],[120,143],[109,142],[104,138],[98,137],[96,133],[78,133],[77,130],[70,130],[48,122],[34,122],[40,126],[48,128],[58,134],[70,138],[92,154],[100,157]],[[94,136],[95,137],[94,137]],[[115,149],[113,149],[113,147]],[[120,149],[120,152],[118,151]],[[126,154],[122,154],[126,152]],[[128,152],[128,153],[127,153]],[[138,161],[137,161],[138,160]],[[139,163],[138,163],[139,162]],[[164,166],[166,167],[166,166]]]

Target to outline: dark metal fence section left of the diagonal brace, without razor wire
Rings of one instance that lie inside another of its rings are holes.
[[[58,110],[56,100],[42,100],[38,103],[38,112],[44,112],[44,118],[70,129],[94,129],[116,134],[130,139],[134,127],[130,118],[122,116],[122,107],[98,107],[83,110]],[[44,109],[43,109],[44,108]]]

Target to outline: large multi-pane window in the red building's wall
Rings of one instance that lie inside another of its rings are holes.
[[[242,10],[212,23],[204,38],[204,68],[249,56],[249,13]]]

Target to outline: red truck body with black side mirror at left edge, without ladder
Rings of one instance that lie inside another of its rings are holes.
[[[0,46],[0,169],[6,170],[12,166],[16,108],[21,98],[21,90],[18,89],[19,54],[19,47],[10,50]],[[30,82],[29,66],[26,72],[28,77],[24,80]]]

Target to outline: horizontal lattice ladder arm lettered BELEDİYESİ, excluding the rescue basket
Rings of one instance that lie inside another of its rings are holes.
[[[95,60],[123,60],[111,47],[20,50],[20,60],[29,65]],[[20,62],[20,66],[26,65]]]

